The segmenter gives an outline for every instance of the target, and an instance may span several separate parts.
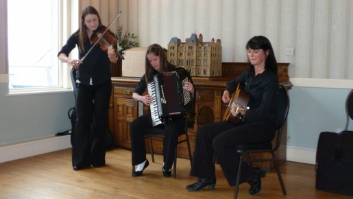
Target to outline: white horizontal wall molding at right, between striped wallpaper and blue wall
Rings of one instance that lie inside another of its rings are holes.
[[[353,89],[353,80],[291,78],[293,86],[326,88],[326,89]]]

